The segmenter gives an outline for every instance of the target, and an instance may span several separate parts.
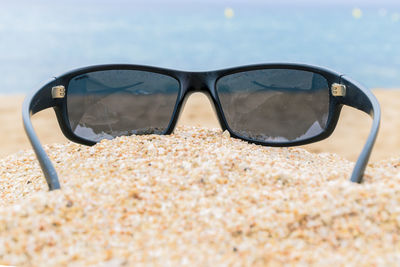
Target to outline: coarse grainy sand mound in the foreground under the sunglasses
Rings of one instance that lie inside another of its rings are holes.
[[[181,128],[0,160],[0,264],[396,266],[400,157],[369,165]]]

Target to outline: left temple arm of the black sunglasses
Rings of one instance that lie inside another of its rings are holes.
[[[40,90],[29,94],[25,98],[22,106],[22,120],[24,123],[25,132],[28,135],[36,157],[39,160],[50,190],[60,189],[60,182],[58,181],[57,172],[54,169],[53,164],[44,151],[42,145],[40,144],[39,138],[33,129],[31,116],[41,110],[55,106],[55,101],[51,94],[53,85],[54,80],[48,82]]]

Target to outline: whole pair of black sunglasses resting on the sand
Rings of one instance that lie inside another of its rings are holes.
[[[354,167],[360,183],[380,123],[371,91],[348,77],[302,64],[262,64],[207,72],[139,65],[100,65],[54,78],[26,97],[25,131],[50,190],[57,173],[32,127],[31,116],[53,107],[64,135],[94,145],[132,134],[170,134],[187,96],[202,92],[214,104],[219,123],[232,137],[266,146],[295,146],[327,138],[343,105],[373,118]]]

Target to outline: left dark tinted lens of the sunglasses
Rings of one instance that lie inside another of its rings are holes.
[[[105,70],[74,77],[67,87],[68,118],[79,137],[99,141],[131,134],[162,134],[179,82],[158,73]]]

